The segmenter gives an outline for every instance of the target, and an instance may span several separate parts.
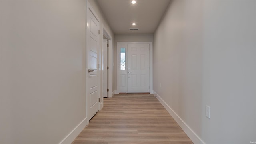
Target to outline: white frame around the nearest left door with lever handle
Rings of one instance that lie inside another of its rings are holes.
[[[88,73],[88,52],[89,52],[89,48],[90,48],[90,43],[89,43],[89,32],[90,32],[90,30],[89,30],[89,24],[88,24],[88,18],[89,18],[89,12],[92,12],[92,14],[95,16],[95,18],[98,20],[98,22],[99,22],[99,30],[100,30],[100,18],[98,17],[98,15],[96,14],[96,12],[94,11],[94,9],[92,8],[92,6],[90,5],[90,3],[88,2],[88,0],[86,0],[86,48],[85,48],[85,52],[86,52],[86,54],[85,54],[85,67],[86,67],[86,70],[85,70],[85,76],[86,76],[86,88],[85,88],[85,91],[86,91],[86,125],[88,125],[89,124],[89,118],[88,118],[88,114],[89,114],[89,112],[88,112],[88,110],[90,109],[90,104],[89,104],[89,95],[87,94],[87,92],[89,91],[89,73]],[[97,65],[99,65],[100,64],[100,39],[101,37],[100,37],[100,35],[99,35],[99,46],[98,46],[98,52],[97,52]],[[98,66],[97,66],[98,67]],[[100,86],[100,79],[101,79],[101,76],[100,76],[100,69],[98,68],[98,70],[97,70],[97,74],[98,74],[98,82],[97,82],[97,85],[98,86]],[[99,92],[98,92],[98,98],[100,98],[100,91],[101,91],[101,89],[100,88],[98,88],[98,90],[99,90]],[[99,107],[98,107],[98,110],[100,110],[100,104],[99,104]]]

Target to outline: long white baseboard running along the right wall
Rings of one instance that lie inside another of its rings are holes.
[[[168,104],[166,104],[166,102],[164,102],[164,100],[158,94],[156,94],[156,92],[153,91],[153,94],[194,144],[205,144],[205,142],[180,118],[180,116],[178,116],[176,112],[174,112],[174,110],[172,110],[172,108],[170,108],[170,106],[168,106]]]

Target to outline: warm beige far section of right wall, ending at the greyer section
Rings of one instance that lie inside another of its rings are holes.
[[[202,0],[174,0],[154,34],[154,92],[197,133],[202,118]]]

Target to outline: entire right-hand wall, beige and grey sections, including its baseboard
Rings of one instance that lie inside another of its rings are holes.
[[[256,141],[255,54],[256,1],[171,2],[154,34],[154,92],[195,144]]]

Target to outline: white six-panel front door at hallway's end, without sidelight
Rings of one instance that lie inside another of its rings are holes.
[[[149,48],[149,44],[128,44],[128,93],[150,92]]]

